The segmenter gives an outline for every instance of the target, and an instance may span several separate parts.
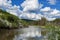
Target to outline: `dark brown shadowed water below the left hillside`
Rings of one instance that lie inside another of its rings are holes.
[[[0,40],[13,40],[16,30],[0,29]]]

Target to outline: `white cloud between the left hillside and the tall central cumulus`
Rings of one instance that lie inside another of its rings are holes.
[[[20,8],[19,6],[14,5],[8,9],[6,9],[6,11],[13,15],[19,16],[21,14],[21,10],[19,8]]]

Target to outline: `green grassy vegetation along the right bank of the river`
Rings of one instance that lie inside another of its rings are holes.
[[[58,38],[58,40],[60,39],[60,26],[56,26],[53,23],[47,23],[45,25],[45,28],[48,29],[48,39],[49,40],[56,40]]]

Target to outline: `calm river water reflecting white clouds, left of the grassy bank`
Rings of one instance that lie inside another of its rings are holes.
[[[0,30],[0,40],[48,40],[45,29],[34,26],[16,30]]]

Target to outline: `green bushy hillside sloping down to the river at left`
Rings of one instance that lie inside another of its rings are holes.
[[[19,18],[0,9],[0,28],[19,27]]]

